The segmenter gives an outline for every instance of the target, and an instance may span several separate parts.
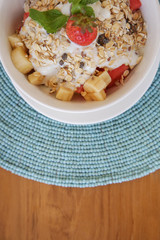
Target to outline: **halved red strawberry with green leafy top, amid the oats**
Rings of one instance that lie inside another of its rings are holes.
[[[69,18],[66,26],[68,38],[78,45],[88,46],[97,37],[95,19],[81,14]]]

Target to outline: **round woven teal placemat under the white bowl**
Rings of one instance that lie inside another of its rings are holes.
[[[0,65],[0,166],[59,186],[132,180],[160,168],[160,68],[141,100],[94,125],[53,121],[18,95]]]

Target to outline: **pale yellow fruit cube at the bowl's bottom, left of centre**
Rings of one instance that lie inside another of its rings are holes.
[[[60,86],[57,91],[56,98],[62,101],[71,101],[73,94],[74,91],[72,89]]]

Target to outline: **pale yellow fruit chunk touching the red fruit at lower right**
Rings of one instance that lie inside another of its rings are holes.
[[[86,92],[100,92],[105,89],[111,82],[111,78],[107,71],[104,71],[100,76],[93,76],[89,78],[84,84],[84,90]]]

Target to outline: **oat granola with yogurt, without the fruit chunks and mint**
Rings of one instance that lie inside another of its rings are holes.
[[[76,91],[90,77],[100,75],[102,69],[111,71],[123,64],[129,66],[119,79],[124,84],[124,78],[142,59],[147,32],[141,11],[132,11],[129,0],[104,0],[90,6],[95,12],[98,35],[89,46],[71,42],[65,28],[52,34],[31,17],[24,21],[19,36],[35,71],[44,76],[43,84],[51,92],[62,84],[69,84],[69,88]],[[68,14],[71,4],[67,0],[27,0],[25,12],[30,8],[58,9]],[[82,96],[85,95],[85,91],[82,92]]]

